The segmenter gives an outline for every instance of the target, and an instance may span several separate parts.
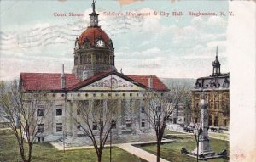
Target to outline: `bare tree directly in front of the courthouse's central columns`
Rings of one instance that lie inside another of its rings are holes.
[[[115,99],[107,100],[107,105],[104,105],[103,100],[93,100],[91,104],[88,101],[75,102],[79,115],[74,120],[79,130],[90,137],[98,162],[102,161],[102,151],[111,129],[116,128],[116,123],[121,118],[117,102]]]

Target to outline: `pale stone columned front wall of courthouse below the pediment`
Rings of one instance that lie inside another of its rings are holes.
[[[122,116],[113,128],[114,135],[143,134],[150,132],[148,115],[145,114],[147,103],[143,100],[145,91],[137,92],[68,92],[48,93],[50,107],[38,107],[43,110],[44,120],[38,120],[39,141],[52,141],[55,137],[83,136],[78,125],[85,125],[78,112],[76,102],[83,101],[91,104],[102,102],[103,109],[108,109],[108,102],[116,101],[118,109],[121,109]],[[160,92],[158,95],[162,95]],[[103,115],[104,116],[104,115]],[[79,124],[78,124],[79,123]],[[42,125],[43,124],[43,125]],[[91,123],[92,124],[92,123]]]

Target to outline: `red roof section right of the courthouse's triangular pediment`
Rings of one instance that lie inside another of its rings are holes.
[[[148,79],[150,75],[127,75],[127,76],[130,77],[132,80],[141,83],[143,86],[148,87]],[[153,89],[158,91],[168,90],[166,85],[162,81],[160,81],[160,79],[155,75],[153,75]]]

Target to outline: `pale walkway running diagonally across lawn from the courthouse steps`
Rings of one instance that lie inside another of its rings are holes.
[[[137,148],[135,146],[132,146],[131,143],[123,143],[123,144],[117,144],[117,147],[127,151],[128,153],[136,155],[138,158],[145,159],[148,162],[155,162],[156,156],[154,154],[150,154],[147,151],[144,151],[141,148]],[[160,162],[169,162],[166,159],[161,159]]]

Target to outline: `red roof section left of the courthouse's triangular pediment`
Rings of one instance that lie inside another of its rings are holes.
[[[67,87],[80,82],[73,74],[65,74],[65,76]],[[20,79],[26,91],[61,90],[61,73],[21,73]]]

